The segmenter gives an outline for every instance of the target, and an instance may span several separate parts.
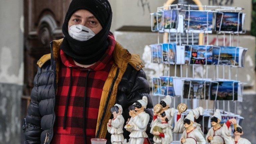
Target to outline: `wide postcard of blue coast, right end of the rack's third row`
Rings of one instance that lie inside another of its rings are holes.
[[[210,84],[211,100],[237,100],[237,95],[238,81],[216,81]]]

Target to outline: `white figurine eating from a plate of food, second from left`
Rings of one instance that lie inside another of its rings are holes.
[[[132,125],[130,136],[130,144],[143,144],[148,137],[146,134],[147,125],[149,122],[149,114],[147,114],[144,109],[147,107],[148,98],[143,96],[141,100],[138,100],[135,103],[135,113],[129,112],[131,119],[128,121],[128,124]]]

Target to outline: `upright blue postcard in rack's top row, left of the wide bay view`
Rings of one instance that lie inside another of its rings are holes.
[[[171,9],[163,11],[164,29],[177,29],[178,11]]]

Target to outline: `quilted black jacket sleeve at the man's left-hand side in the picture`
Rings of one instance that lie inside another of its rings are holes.
[[[23,132],[25,134],[25,144],[40,144],[41,135],[41,115],[38,101],[38,78],[42,69],[38,67],[34,78],[34,87],[31,91],[31,102],[27,109],[27,116],[24,120]]]

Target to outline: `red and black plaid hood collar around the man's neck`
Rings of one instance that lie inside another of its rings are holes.
[[[81,66],[76,65],[74,60],[70,56],[66,55],[63,50],[60,50],[61,61],[66,67],[72,66],[72,68],[77,70],[82,70],[82,71],[88,70],[88,69],[91,69],[93,71],[102,70],[105,68],[106,64],[109,63],[109,61],[112,59],[113,57],[112,53],[116,45],[115,37],[111,32],[109,32],[108,34],[108,41],[109,41],[109,46],[105,54],[100,58],[99,61],[97,61],[94,65],[88,68],[83,68]]]

